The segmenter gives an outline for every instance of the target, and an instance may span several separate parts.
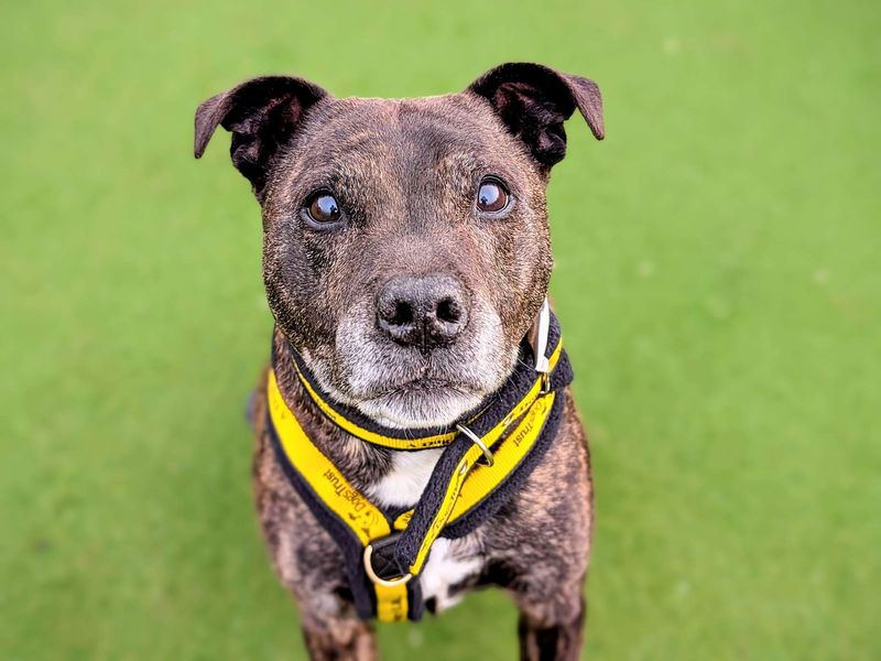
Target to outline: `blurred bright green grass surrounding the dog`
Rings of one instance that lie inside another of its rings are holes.
[[[553,293],[592,440],[586,650],[881,657],[881,6],[3,3],[0,657],[303,659],[252,516],[260,221],[196,105],[504,61],[596,78]],[[388,659],[510,659],[497,592]]]

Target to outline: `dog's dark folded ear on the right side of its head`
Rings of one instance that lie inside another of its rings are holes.
[[[597,140],[602,140],[602,98],[588,78],[541,64],[510,62],[488,71],[469,91],[486,98],[512,134],[530,148],[544,167],[566,155],[563,122],[576,108]]]

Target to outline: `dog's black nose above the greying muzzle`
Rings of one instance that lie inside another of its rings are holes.
[[[398,344],[428,351],[452,343],[468,324],[468,295],[449,275],[398,275],[377,297],[377,323]]]

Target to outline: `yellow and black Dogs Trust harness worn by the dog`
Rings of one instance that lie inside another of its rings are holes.
[[[512,486],[508,483],[518,481],[515,477],[520,483],[525,479],[521,468],[529,463],[525,459],[543,437],[552,411],[558,413],[559,407],[554,405],[555,390],[570,380],[568,364],[565,370],[557,370],[566,372],[557,383],[548,376],[555,371],[561,356],[565,358],[557,337],[547,358],[547,371],[533,372],[537,376],[533,377],[531,386],[521,387],[521,391],[525,391],[522,397],[483,434],[477,435],[469,426],[483,414],[481,410],[453,431],[415,438],[366,429],[341,413],[338,405],[322,397],[303,366],[294,360],[300,381],[316,407],[347,433],[395,451],[446,448],[420,502],[400,513],[387,512],[371,502],[322,453],[285,402],[274,369],[270,370],[267,382],[269,426],[276,455],[292,485],[342,549],[356,606],[362,617],[376,616],[381,621],[418,619],[422,614],[418,575],[438,535],[442,532],[449,537],[467,533],[476,527],[475,521],[482,521],[498,509],[501,503],[493,502],[500,500],[494,496],[500,495],[503,486]],[[551,440],[545,438],[544,445]],[[531,462],[533,466],[536,460]],[[526,468],[531,470],[530,466]],[[413,525],[417,530],[412,529]],[[385,560],[378,563],[378,554],[385,555]],[[377,568],[383,562],[387,566]],[[367,589],[362,589],[365,587]],[[418,603],[414,603],[416,600]]]

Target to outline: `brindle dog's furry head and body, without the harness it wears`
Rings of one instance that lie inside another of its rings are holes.
[[[196,156],[218,124],[230,131],[232,162],[262,207],[281,391],[379,505],[415,505],[440,451],[347,435],[304,393],[289,347],[334,399],[389,426],[452,424],[499,389],[547,292],[545,189],[575,109],[601,139],[594,82],[510,63],[460,94],[414,99],[338,99],[301,78],[254,78],[196,112]],[[264,382],[251,404],[253,483],[275,571],[314,659],[374,659],[340,551],[273,455]],[[439,539],[422,575],[434,611],[477,586],[507,589],[525,659],[577,659],[581,648],[592,489],[564,397],[557,436],[525,486],[472,533]]]

